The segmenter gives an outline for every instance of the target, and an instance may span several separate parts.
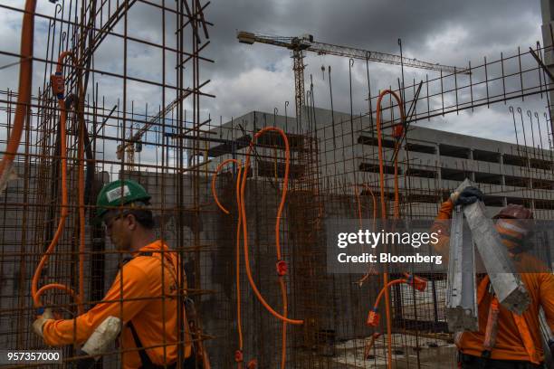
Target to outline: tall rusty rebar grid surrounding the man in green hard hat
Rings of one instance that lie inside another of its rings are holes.
[[[212,62],[202,56],[209,43],[208,30],[213,26],[205,20],[206,5],[199,1],[69,0],[52,5],[49,12],[34,14],[36,28],[44,32],[34,33],[33,42],[41,46],[35,48],[33,71],[42,74],[43,81],[37,88],[34,80],[24,135],[14,160],[14,179],[2,194],[0,211],[3,347],[13,350],[43,347],[31,330],[36,317],[31,279],[60,218],[62,157],[67,158],[69,215],[60,241],[40,276],[39,287],[62,283],[78,290],[77,188],[81,165],[85,167],[87,222],[82,301],[85,311],[104,297],[125,256],[106,241],[102,226],[90,222],[96,213],[96,196],[101,186],[116,179],[136,179],[145,186],[152,195],[157,233],[179,256],[177,291],[174,296],[163,295],[162,304],[170,298],[184,300],[189,296],[202,311],[206,301],[220,300],[220,290],[206,288],[211,283],[207,281],[210,265],[205,260],[209,260],[206,254],[215,250],[214,240],[194,221],[205,212],[204,184],[208,174],[205,167],[191,164],[191,158],[203,156],[205,143],[200,132],[210,125],[210,120],[200,113],[201,97],[213,97],[202,90],[209,80],[200,75],[202,63]],[[0,7],[14,16],[24,13],[7,3]],[[145,18],[148,24],[144,23]],[[145,25],[147,32],[143,29]],[[62,153],[60,109],[50,76],[58,55],[65,51],[72,52],[75,63],[66,59],[63,64],[68,118],[67,152]],[[139,51],[144,52],[145,60],[136,57]],[[2,50],[0,54],[8,61],[19,58],[18,50]],[[0,92],[3,150],[5,137],[9,137],[13,128],[16,98],[17,91]],[[77,109],[80,102],[82,111]],[[80,146],[85,153],[82,161],[78,159]],[[4,155],[2,151],[0,156]],[[77,315],[75,301],[60,290],[49,290],[42,300],[59,317],[69,319]],[[177,304],[177,309],[182,317],[183,304]],[[202,334],[196,336],[206,346],[211,345],[209,338],[225,336],[217,321],[210,323],[212,326],[202,326]],[[180,321],[177,325],[177,341],[161,345],[162,348],[177,345],[181,362],[186,324]],[[118,367],[121,356],[134,351],[129,347],[111,347],[100,359],[100,365]],[[76,355],[76,346],[63,347],[62,366],[75,364]]]

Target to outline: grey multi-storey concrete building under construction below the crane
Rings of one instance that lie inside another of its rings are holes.
[[[317,108],[306,109],[305,115],[316,122],[313,149],[317,150],[320,188],[335,194],[354,194],[365,184],[377,193],[378,145],[372,121],[375,117],[350,118],[348,113]],[[332,124],[332,121],[335,123]],[[310,136],[302,132],[293,118],[250,112],[209,132],[209,137],[226,140],[212,143],[205,150],[210,170],[215,170],[225,159],[244,156],[253,133],[266,127],[282,128],[290,139],[292,152],[306,147],[307,140],[304,139]],[[276,145],[283,150],[283,141],[273,133],[261,137],[258,144],[263,148],[257,150],[260,157],[253,162],[253,175],[260,178],[282,177],[284,166],[272,160],[272,151]],[[529,146],[526,144],[432,128],[410,128],[406,144],[397,154],[400,164],[398,175],[402,177],[399,185],[406,194],[404,211],[411,216],[434,217],[435,205],[442,203],[452,189],[469,178],[479,184],[485,193],[484,203],[491,215],[502,206],[515,203],[533,209],[538,219],[550,219],[554,210],[554,203],[550,201],[554,189],[552,154],[548,148],[533,147],[530,142]],[[383,139],[382,147],[390,191],[393,187],[395,139]],[[292,162],[291,177],[300,177],[304,170],[303,166]]]

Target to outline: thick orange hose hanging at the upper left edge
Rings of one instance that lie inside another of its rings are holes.
[[[19,90],[17,106],[15,107],[14,127],[5,147],[5,155],[0,162],[0,186],[7,182],[10,169],[14,164],[14,158],[19,148],[21,135],[24,129],[24,120],[27,117],[27,109],[31,104],[31,90],[33,88],[33,33],[35,0],[25,2],[25,13],[21,28],[21,62],[19,66]]]

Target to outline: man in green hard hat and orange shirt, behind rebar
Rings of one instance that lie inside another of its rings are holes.
[[[35,320],[33,330],[47,345],[82,344],[105,319],[118,317],[123,324],[119,340],[122,367],[177,368],[177,344],[183,331],[185,350],[181,357],[185,363],[180,367],[209,367],[207,358],[198,360],[197,344],[201,340],[195,336],[195,345],[192,345],[190,326],[196,324],[186,318],[190,319],[193,313],[186,309],[187,304],[177,309],[178,288],[186,290],[186,286],[178,283],[184,276],[177,274],[177,253],[156,238],[150,197],[132,180],[111,182],[101,189],[97,219],[105,224],[116,249],[130,253],[132,258],[121,266],[102,301],[88,312],[74,319],[55,320],[46,309]],[[177,317],[178,311],[183,312],[182,319]],[[179,327],[179,322],[188,324]],[[204,363],[196,366],[195,362]]]

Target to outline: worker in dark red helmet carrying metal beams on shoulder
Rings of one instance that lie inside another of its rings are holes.
[[[435,218],[434,231],[441,233],[436,251],[447,254],[449,232],[444,221],[452,217],[454,206],[482,201],[482,192],[473,186],[454,192],[442,203]],[[531,211],[521,205],[509,204],[494,217],[494,227],[503,245],[508,249],[514,265],[539,265],[530,253],[529,232]],[[527,222],[526,222],[527,220]],[[535,270],[538,267],[535,267]],[[477,275],[477,302],[479,330],[456,333],[458,367],[482,369],[542,368],[544,351],[540,334],[540,307],[544,310],[550,330],[554,330],[554,276],[544,272],[520,272],[521,280],[530,296],[530,306],[517,315],[502,307],[494,295],[489,276]]]

